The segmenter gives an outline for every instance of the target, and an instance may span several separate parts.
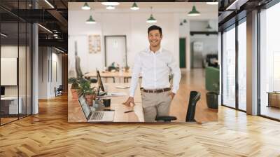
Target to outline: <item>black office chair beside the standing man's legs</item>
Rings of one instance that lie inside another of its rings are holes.
[[[186,116],[186,122],[195,122],[195,107],[197,106],[197,102],[200,100],[200,93],[197,91],[190,92],[190,100],[188,102],[188,111]],[[176,116],[158,116],[155,118],[155,121],[175,121]]]

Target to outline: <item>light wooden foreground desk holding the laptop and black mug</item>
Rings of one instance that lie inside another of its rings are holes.
[[[104,88],[109,92],[122,92],[127,93],[127,96],[120,97],[106,97],[111,98],[111,107],[106,107],[106,109],[114,109],[115,116],[113,122],[144,122],[144,114],[142,109],[141,102],[141,92],[137,88],[134,96],[135,106],[133,107],[134,112],[125,114],[125,111],[131,110],[130,107],[126,107],[123,102],[127,100],[129,96],[129,88],[118,89],[115,86],[129,86],[128,83],[105,83]],[[69,84],[69,93],[68,93],[68,121],[69,122],[86,122],[83,110],[80,107],[78,100],[73,100],[71,95],[71,85]]]

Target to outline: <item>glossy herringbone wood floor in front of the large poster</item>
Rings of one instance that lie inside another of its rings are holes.
[[[280,123],[220,107],[218,122],[67,123],[66,97],[0,127],[0,156],[280,156]]]

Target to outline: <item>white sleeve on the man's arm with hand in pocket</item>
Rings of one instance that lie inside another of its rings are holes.
[[[179,83],[181,80],[181,71],[176,63],[174,56],[172,55],[171,61],[168,64],[168,67],[171,69],[173,74],[173,87],[172,87],[172,93],[177,93],[177,90],[179,90]]]

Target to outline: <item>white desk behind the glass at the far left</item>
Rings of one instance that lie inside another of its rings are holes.
[[[1,111],[3,114],[21,114],[22,97],[1,97]]]

